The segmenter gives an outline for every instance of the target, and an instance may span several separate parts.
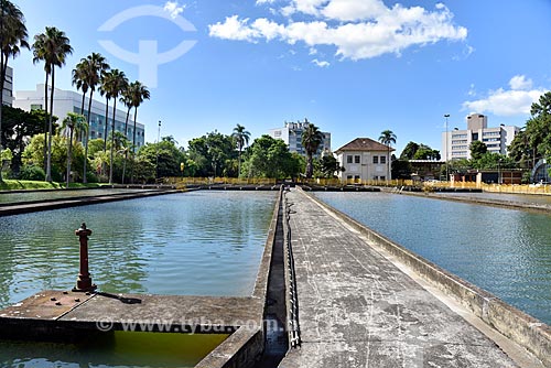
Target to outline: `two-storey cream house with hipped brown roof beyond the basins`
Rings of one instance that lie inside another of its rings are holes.
[[[390,180],[392,151],[370,138],[356,138],[335,151],[339,165],[345,169],[338,178],[342,182]]]

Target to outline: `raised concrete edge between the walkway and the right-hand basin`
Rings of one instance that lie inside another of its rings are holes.
[[[371,230],[313,195],[303,191],[302,193],[354,227],[376,247],[391,253],[446,295],[455,299],[498,333],[532,353],[545,367],[551,367],[550,326]]]

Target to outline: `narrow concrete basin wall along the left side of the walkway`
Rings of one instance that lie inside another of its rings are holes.
[[[280,188],[278,198],[274,204],[268,237],[264,243],[264,251],[258,269],[257,280],[252,297],[262,301],[262,310],[257,311],[257,322],[262,328],[251,331],[247,326],[239,327],[225,342],[208,354],[197,368],[238,368],[252,367],[258,361],[264,350],[264,324],[263,311],[266,306],[266,297],[268,293],[268,280],[270,278],[270,266],[272,259],[273,245],[276,242],[276,229],[278,226],[278,217],[281,208],[281,198],[283,187]]]

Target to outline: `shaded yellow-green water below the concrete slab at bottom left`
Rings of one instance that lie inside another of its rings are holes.
[[[0,366],[194,367],[227,336],[116,332],[80,344],[0,342]]]

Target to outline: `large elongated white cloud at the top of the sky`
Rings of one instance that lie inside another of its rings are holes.
[[[266,0],[260,0],[266,1]],[[287,17],[298,13],[313,19],[278,23],[266,18],[250,21],[233,15],[209,25],[209,34],[225,40],[302,42],[313,48],[329,45],[342,58],[361,59],[400,53],[413,45],[442,40],[463,41],[464,26],[454,25],[453,14],[439,3],[433,11],[421,7],[387,8],[381,0],[288,0],[280,9]]]

